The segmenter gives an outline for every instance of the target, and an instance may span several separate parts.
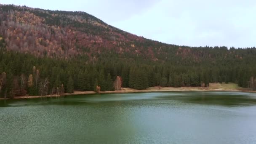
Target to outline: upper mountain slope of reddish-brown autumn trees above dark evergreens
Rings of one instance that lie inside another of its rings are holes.
[[[0,5],[0,21],[0,35],[8,50],[36,56],[69,58],[82,55],[89,61],[105,56],[152,61],[243,57],[240,50],[234,48],[230,51],[227,47],[190,48],[148,40],[112,27],[85,12]],[[255,55],[256,48],[243,52]]]

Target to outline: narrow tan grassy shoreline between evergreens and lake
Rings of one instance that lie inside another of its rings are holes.
[[[221,86],[220,84],[211,84],[210,87],[150,87],[145,90],[136,90],[133,88],[121,88],[121,90],[117,91],[101,91],[100,93],[143,93],[143,92],[170,92],[170,91],[235,91],[235,92],[250,92],[256,93],[256,91],[247,91],[242,89],[230,89]],[[99,93],[99,94],[100,94]],[[16,96],[14,98],[6,98],[6,99],[35,99],[35,98],[47,98],[47,97],[61,97],[61,96],[69,96],[69,95],[87,95],[87,94],[96,94],[94,91],[74,91],[74,93],[64,93],[62,95],[46,95],[46,96]],[[6,100],[4,98],[0,98],[0,100]]]

